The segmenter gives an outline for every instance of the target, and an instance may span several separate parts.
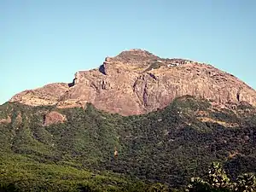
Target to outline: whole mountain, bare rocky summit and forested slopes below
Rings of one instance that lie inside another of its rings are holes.
[[[142,49],[0,106],[0,191],[184,191],[218,161],[256,172],[256,93]],[[215,190],[216,191],[216,190]]]

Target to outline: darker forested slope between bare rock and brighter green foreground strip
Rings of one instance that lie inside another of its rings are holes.
[[[221,109],[183,96],[157,112],[129,117],[91,104],[60,109],[10,102],[0,112],[3,156],[20,154],[38,163],[121,173],[170,187],[201,176],[214,160],[224,162],[233,176],[256,171],[256,108],[247,103]],[[66,119],[45,124],[50,112]]]

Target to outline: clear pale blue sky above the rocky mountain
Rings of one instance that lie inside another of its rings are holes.
[[[141,48],[256,88],[255,0],[0,0],[0,103]]]

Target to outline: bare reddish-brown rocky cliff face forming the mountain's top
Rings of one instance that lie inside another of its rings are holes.
[[[164,108],[177,96],[191,95],[256,106],[256,91],[229,73],[211,65],[183,59],[163,59],[142,49],[107,57],[102,66],[79,71],[71,84],[48,84],[25,90],[10,102],[26,105],[84,106],[122,115],[148,113]]]

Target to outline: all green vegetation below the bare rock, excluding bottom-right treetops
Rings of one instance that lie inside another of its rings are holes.
[[[53,110],[67,121],[44,126],[44,114]],[[214,120],[198,119],[199,112]],[[12,122],[0,124],[3,189],[182,190],[191,177],[204,177],[212,161],[221,162],[231,180],[256,172],[256,114],[244,103],[219,110],[183,96],[157,112],[129,117],[91,104],[57,109],[5,103],[0,119],[8,116]]]

